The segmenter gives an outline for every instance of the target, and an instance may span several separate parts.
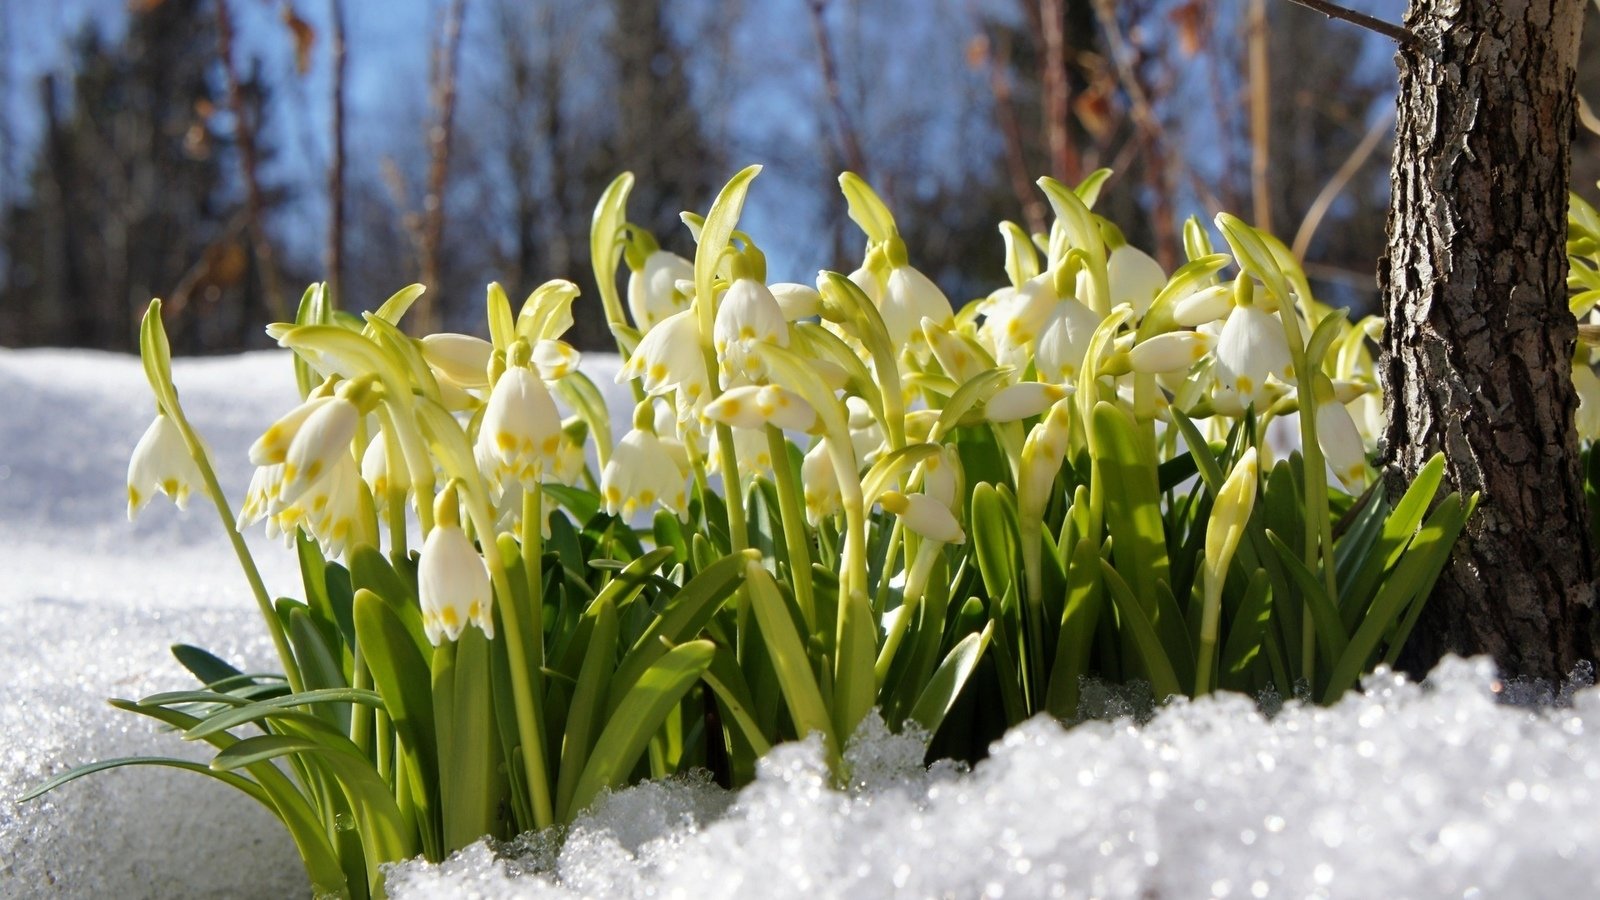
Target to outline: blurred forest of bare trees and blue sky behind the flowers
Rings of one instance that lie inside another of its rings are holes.
[[[1227,210],[1371,309],[1392,53],[1288,0],[0,0],[0,344],[131,351],[162,296],[181,352],[266,346],[312,280],[419,280],[414,325],[477,331],[490,280],[592,285],[618,171],[691,255],[677,213],[750,162],[773,280],[859,263],[843,168],[960,304],[1003,282],[1000,219],[1045,226],[1034,178],[1110,167],[1101,210],[1168,269]]]

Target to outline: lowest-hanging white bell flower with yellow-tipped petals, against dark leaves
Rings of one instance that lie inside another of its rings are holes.
[[[422,631],[435,647],[445,639],[459,639],[467,621],[477,625],[485,637],[494,639],[490,572],[461,530],[454,482],[445,485],[434,500],[434,528],[422,541],[416,588],[422,605]]]

